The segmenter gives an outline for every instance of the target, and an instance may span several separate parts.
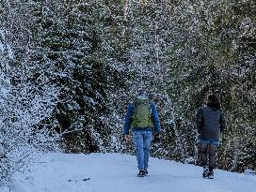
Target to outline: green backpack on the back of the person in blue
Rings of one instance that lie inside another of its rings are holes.
[[[136,98],[132,126],[139,128],[153,126],[150,99]]]

